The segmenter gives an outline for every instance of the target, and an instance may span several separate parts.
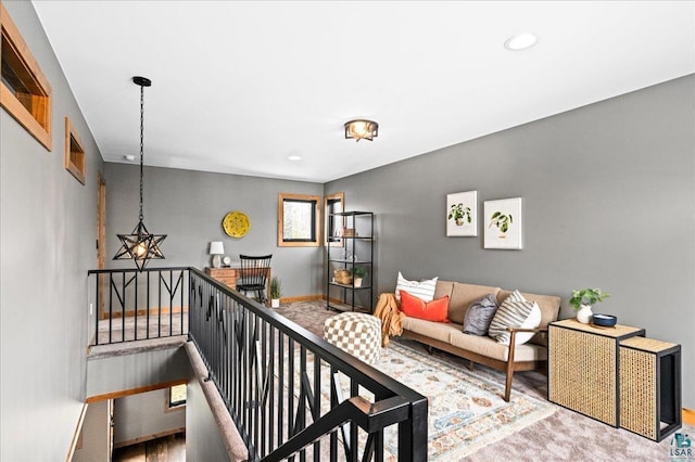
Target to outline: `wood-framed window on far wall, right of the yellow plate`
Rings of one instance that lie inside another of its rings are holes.
[[[285,194],[278,197],[278,247],[317,247],[320,196]]]

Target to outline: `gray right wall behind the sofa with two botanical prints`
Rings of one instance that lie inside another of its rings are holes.
[[[376,141],[375,141],[376,142]],[[326,184],[377,214],[379,291],[408,279],[563,297],[612,294],[595,312],[683,348],[695,409],[695,76],[548,117]],[[446,194],[523,198],[523,249],[446,238]]]

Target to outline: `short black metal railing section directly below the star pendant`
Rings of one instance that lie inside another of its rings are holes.
[[[188,268],[90,270],[88,280],[92,345],[188,334]]]

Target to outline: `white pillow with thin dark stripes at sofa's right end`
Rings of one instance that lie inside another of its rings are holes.
[[[497,343],[509,345],[509,332],[506,328],[535,329],[541,325],[541,308],[535,301],[528,301],[519,291],[514,291],[497,308],[490,323],[489,335]],[[533,332],[518,333],[517,345],[525,344],[535,335]]]

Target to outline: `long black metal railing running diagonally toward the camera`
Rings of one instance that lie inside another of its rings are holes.
[[[189,274],[189,338],[251,460],[427,460],[426,397],[201,271]]]

